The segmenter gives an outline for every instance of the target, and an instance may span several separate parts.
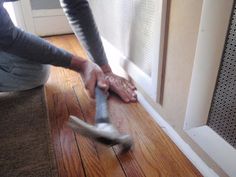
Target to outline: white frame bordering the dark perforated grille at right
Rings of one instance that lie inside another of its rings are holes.
[[[233,0],[204,0],[183,129],[229,176],[236,149],[207,126]]]

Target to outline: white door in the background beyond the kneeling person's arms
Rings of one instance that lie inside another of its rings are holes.
[[[20,0],[12,5],[16,20],[28,32],[39,36],[72,32],[59,0]]]

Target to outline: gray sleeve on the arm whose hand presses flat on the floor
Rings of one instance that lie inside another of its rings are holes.
[[[87,0],[60,0],[69,23],[88,57],[99,66],[107,64],[107,57]]]

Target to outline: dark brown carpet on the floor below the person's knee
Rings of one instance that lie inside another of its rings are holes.
[[[0,176],[58,176],[43,87],[0,93]]]

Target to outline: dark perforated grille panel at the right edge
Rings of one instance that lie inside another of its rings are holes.
[[[208,125],[236,148],[236,7],[212,100]]]

